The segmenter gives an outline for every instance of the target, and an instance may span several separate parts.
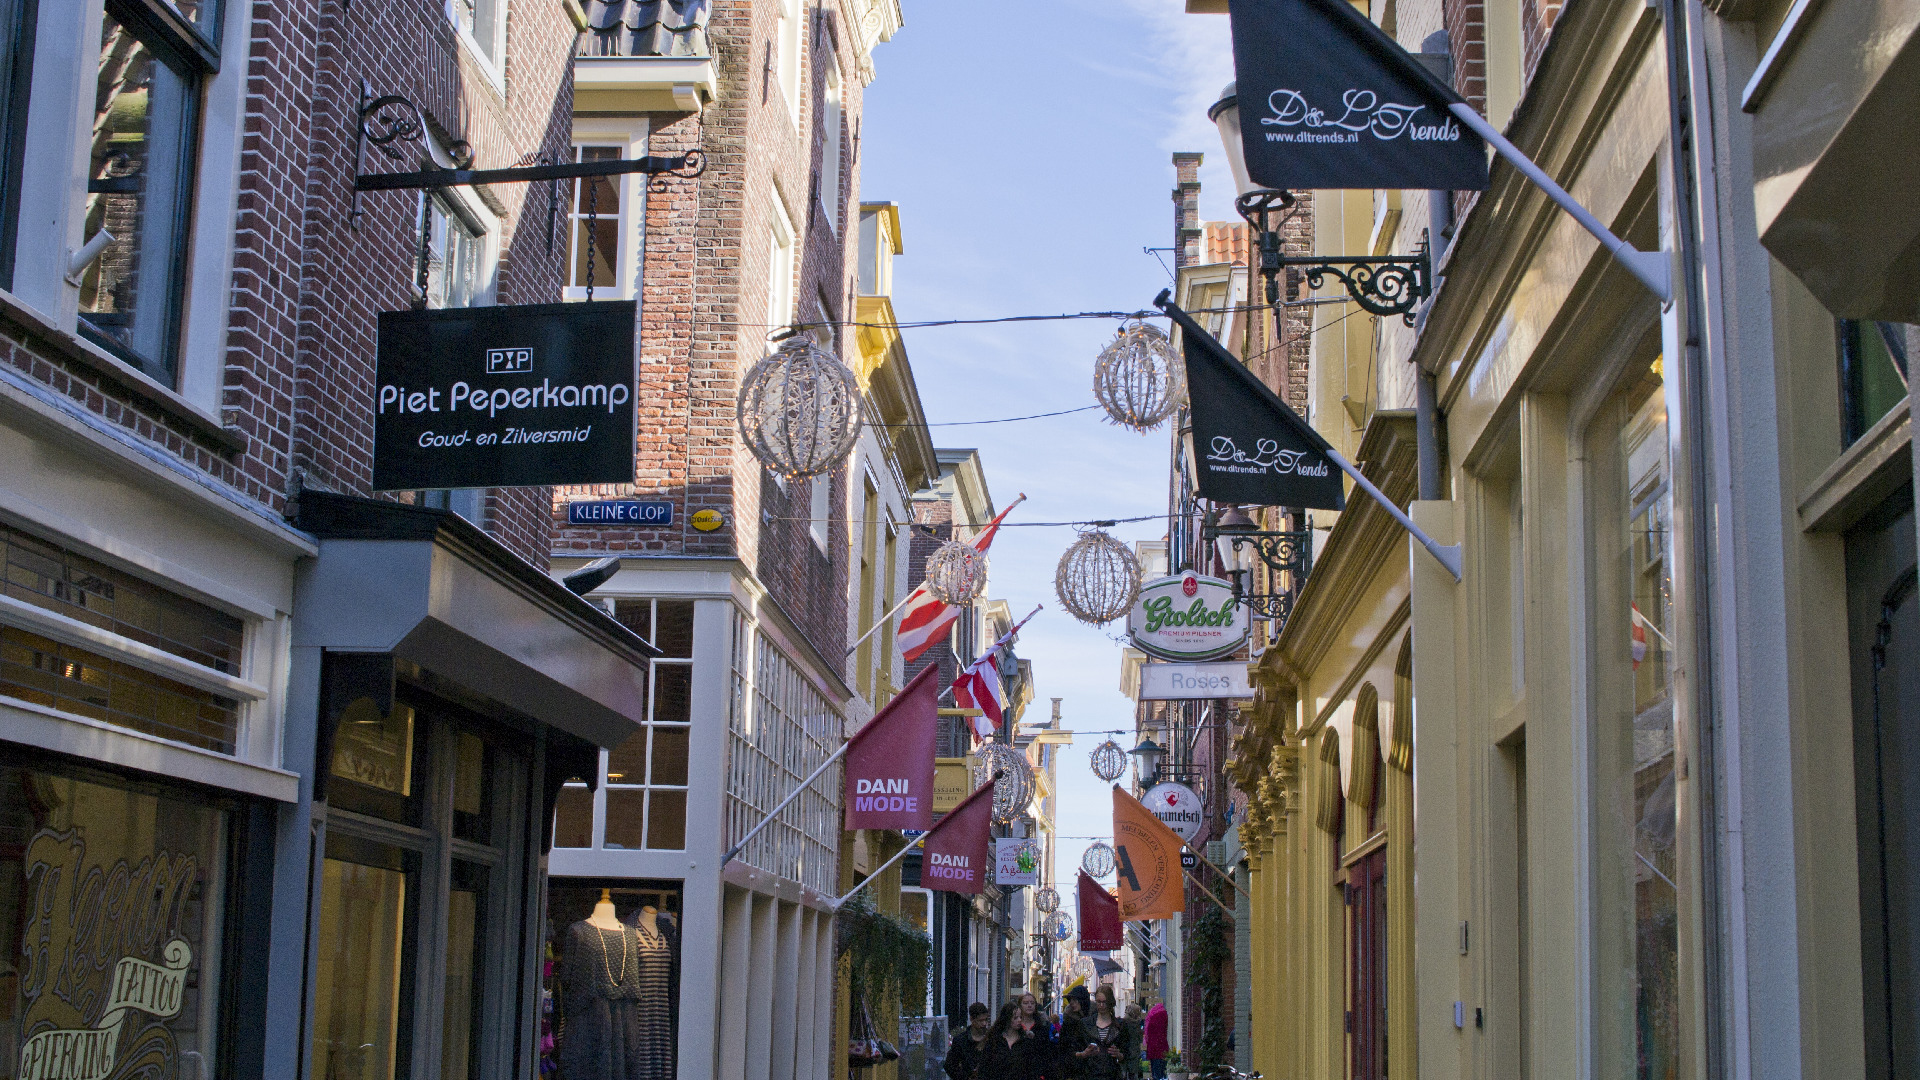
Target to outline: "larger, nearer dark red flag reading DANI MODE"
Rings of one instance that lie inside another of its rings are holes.
[[[847,828],[933,826],[937,667],[927,667],[847,740]]]

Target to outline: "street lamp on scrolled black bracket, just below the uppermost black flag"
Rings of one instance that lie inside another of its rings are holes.
[[[1267,306],[1273,307],[1281,302],[1281,271],[1302,267],[1309,288],[1321,288],[1327,275],[1332,275],[1340,279],[1348,298],[1363,311],[1380,317],[1402,315],[1411,327],[1413,309],[1432,292],[1432,259],[1427,254],[1427,240],[1421,240],[1419,252],[1411,258],[1283,256],[1281,227],[1294,215],[1294,196],[1263,188],[1248,173],[1246,142],[1240,138],[1240,96],[1235,83],[1227,83],[1206,115],[1219,129],[1221,148],[1227,150],[1227,167],[1233,169],[1236,192],[1233,208],[1254,229],[1260,248],[1260,277],[1267,282]]]

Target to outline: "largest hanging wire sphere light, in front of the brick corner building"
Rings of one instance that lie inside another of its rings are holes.
[[[860,382],[812,334],[795,334],[755,363],[737,407],[747,450],[789,480],[828,473],[860,436]]]

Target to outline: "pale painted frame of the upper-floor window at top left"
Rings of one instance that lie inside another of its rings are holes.
[[[86,171],[94,90],[100,63],[102,0],[40,4],[35,25],[33,90],[27,102],[27,156],[33,181],[21,184],[15,234],[13,296],[48,323],[79,338],[81,290],[67,281],[67,259],[84,244]],[[246,119],[248,54],[253,6],[227,0],[221,15],[221,69],[202,77],[200,146],[192,221],[182,273],[180,354],[175,384],[121,365],[173,407],[221,427],[227,390],[227,319],[240,204],[240,140]],[[92,46],[88,46],[92,42]],[[67,183],[58,183],[65,161]],[[298,271],[280,275],[292,294]],[[121,363],[106,350],[88,352]]]

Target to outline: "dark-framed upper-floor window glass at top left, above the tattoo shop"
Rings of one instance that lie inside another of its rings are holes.
[[[113,240],[81,273],[81,332],[175,384],[192,221],[200,90],[219,65],[219,4],[179,19],[108,0],[100,25],[84,240]]]

